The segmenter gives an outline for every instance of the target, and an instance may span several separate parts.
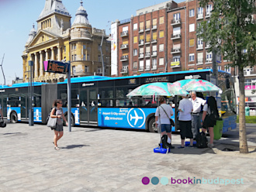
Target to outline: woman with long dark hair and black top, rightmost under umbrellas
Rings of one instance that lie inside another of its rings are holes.
[[[213,127],[216,125],[216,120],[219,118],[219,111],[216,104],[216,99],[213,96],[210,96],[207,101],[206,105],[204,105],[202,109],[202,132],[206,133],[208,129],[209,132],[209,147],[213,148],[213,138],[214,132]]]

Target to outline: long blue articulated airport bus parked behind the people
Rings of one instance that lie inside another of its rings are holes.
[[[92,125],[120,129],[144,129],[156,132],[154,112],[157,104],[152,97],[127,98],[126,94],[141,84],[152,82],[175,82],[188,78],[214,81],[213,70],[189,70],[163,74],[140,74],[129,77],[74,77],[71,78],[71,125]],[[215,80],[216,81],[216,80]],[[236,128],[236,100],[234,83],[230,74],[218,71],[218,86],[222,94],[204,93],[216,97],[223,118],[223,132]],[[29,87],[27,83],[0,87],[0,104],[3,115],[10,122],[28,121]],[[47,123],[52,103],[63,101],[67,115],[67,80],[56,84],[35,83],[33,95],[34,122]],[[181,97],[167,98],[172,103],[177,122],[178,101]],[[178,123],[172,131],[178,130]]]

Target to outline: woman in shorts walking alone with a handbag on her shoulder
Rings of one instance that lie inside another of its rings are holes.
[[[59,150],[59,148],[57,147],[57,141],[61,139],[61,137],[63,136],[63,120],[62,119],[64,119],[64,122],[66,122],[66,125],[67,125],[67,120],[63,114],[61,99],[55,100],[53,107],[54,108],[50,112],[50,117],[57,118],[56,127],[54,128],[54,146],[55,146],[54,149]]]

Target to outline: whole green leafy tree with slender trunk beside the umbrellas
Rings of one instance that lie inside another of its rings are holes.
[[[256,62],[255,0],[201,0],[200,6],[213,3],[208,21],[200,22],[199,37],[209,43],[209,51],[218,50],[230,67],[237,67],[239,79],[239,146],[248,153],[245,128],[244,67]],[[201,32],[201,33],[200,33]]]

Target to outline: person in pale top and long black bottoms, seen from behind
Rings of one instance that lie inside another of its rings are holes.
[[[193,134],[192,134],[192,124],[191,124],[191,112],[193,111],[192,101],[189,101],[189,94],[186,96],[182,96],[182,101],[179,102],[178,105],[178,121],[179,127],[181,130],[181,139],[182,146],[178,147],[180,149],[185,147],[185,139],[190,139],[190,146],[193,146]]]

